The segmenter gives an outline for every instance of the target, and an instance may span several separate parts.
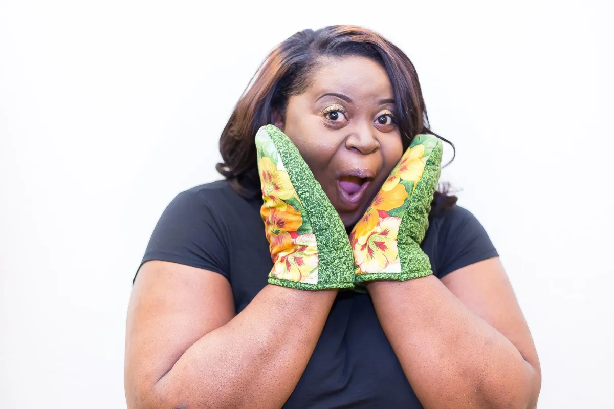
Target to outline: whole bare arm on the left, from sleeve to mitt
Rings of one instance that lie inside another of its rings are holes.
[[[128,407],[282,407],[336,294],[267,285],[235,316],[223,276],[144,263],[126,327]]]

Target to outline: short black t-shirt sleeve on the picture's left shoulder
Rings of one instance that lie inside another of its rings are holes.
[[[141,265],[163,260],[229,278],[228,238],[205,192],[187,190],[169,203],[153,229]]]

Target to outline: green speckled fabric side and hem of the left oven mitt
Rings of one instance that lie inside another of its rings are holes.
[[[354,287],[354,258],[339,214],[286,134],[273,125],[266,125],[265,129],[300,199],[303,223],[308,222],[316,236],[319,262],[317,284],[273,276],[269,276],[268,282],[305,290],[351,289]]]

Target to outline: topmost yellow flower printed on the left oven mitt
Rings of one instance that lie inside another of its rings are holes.
[[[262,198],[265,201],[265,206],[283,211],[286,208],[284,200],[295,195],[288,173],[279,170],[267,157],[258,160],[258,172],[260,172]]]

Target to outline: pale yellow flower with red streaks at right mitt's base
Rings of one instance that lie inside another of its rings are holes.
[[[357,275],[363,273],[398,273],[401,271],[398,259],[397,232],[400,217],[386,217],[379,220],[375,230],[359,237],[353,243],[354,264]]]

